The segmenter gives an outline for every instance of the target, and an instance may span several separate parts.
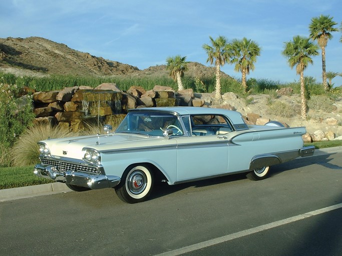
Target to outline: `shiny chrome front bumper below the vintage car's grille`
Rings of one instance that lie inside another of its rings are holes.
[[[120,177],[114,175],[93,174],[74,170],[61,171],[58,170],[56,166],[46,164],[37,164],[34,168],[34,173],[38,177],[49,178],[72,185],[89,187],[91,189],[114,187],[119,184],[121,180]]]

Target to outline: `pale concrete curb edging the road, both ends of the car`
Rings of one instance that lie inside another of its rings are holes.
[[[323,149],[316,149],[313,156],[322,154],[331,154],[342,151],[342,146],[328,147]],[[48,195],[56,193],[65,193],[72,191],[66,184],[61,182],[41,184],[34,186],[23,186],[16,188],[0,189],[0,201],[16,200],[21,198]]]

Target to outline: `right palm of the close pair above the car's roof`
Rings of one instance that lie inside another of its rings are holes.
[[[242,40],[233,39],[229,45],[230,61],[235,63],[234,70],[242,73],[241,83],[245,92],[247,91],[246,75],[249,74],[249,70],[254,70],[254,62],[260,51],[259,45],[246,37]]]

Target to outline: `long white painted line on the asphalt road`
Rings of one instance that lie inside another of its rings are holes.
[[[211,245],[215,245],[215,244],[218,244],[218,243],[221,243],[221,242],[226,242],[226,241],[229,241],[229,240],[232,240],[232,239],[235,239],[235,238],[239,238],[239,237],[242,237],[242,236],[245,236],[245,235],[257,233],[257,232],[260,232],[260,231],[263,231],[263,230],[267,230],[267,229],[270,229],[270,228],[273,228],[273,227],[277,227],[277,226],[281,226],[281,225],[284,225],[284,224],[288,224],[288,223],[291,223],[291,222],[294,222],[294,221],[297,221],[297,220],[300,220],[300,219],[308,218],[308,217],[311,217],[311,216],[314,216],[314,215],[318,215],[318,214],[321,214],[321,213],[324,213],[324,212],[327,212],[327,211],[331,211],[331,210],[334,210],[334,209],[338,209],[338,208],[342,208],[342,203],[331,205],[331,206],[328,206],[328,207],[325,207],[325,208],[321,208],[321,209],[318,209],[318,210],[309,211],[309,212],[306,212],[306,213],[303,213],[303,214],[299,214],[297,216],[281,219],[281,220],[278,220],[278,221],[274,221],[274,222],[271,222],[271,223],[268,223],[268,224],[264,224],[264,225],[261,225],[261,226],[256,226],[256,227],[249,228],[249,229],[246,229],[246,230],[243,230],[243,231],[239,231],[239,232],[236,232],[236,233],[224,235],[224,236],[217,237],[217,238],[214,238],[214,239],[211,239],[211,240],[207,240],[207,241],[204,241],[204,242],[199,242],[199,243],[192,244],[192,245],[189,245],[189,246],[185,246],[185,247],[182,247],[182,248],[179,248],[179,249],[167,251],[167,252],[164,252],[164,253],[161,253],[161,254],[157,254],[156,256],[176,256],[176,255],[180,255],[182,253],[186,253],[186,252],[190,252],[190,251],[193,251],[193,250],[201,249],[201,248],[204,248],[204,247],[207,247],[207,246],[211,246]]]

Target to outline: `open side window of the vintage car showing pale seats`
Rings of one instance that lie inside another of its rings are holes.
[[[191,115],[192,135],[217,135],[232,131],[226,117],[215,114]]]

